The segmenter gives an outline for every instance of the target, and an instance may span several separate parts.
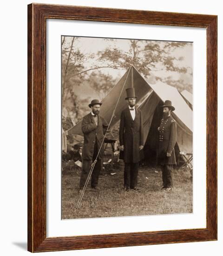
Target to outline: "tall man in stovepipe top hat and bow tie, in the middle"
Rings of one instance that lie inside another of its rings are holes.
[[[136,95],[134,88],[126,89],[128,107],[121,113],[119,141],[123,151],[124,187],[125,190],[137,190],[138,162],[143,158],[143,116],[140,109],[135,107]]]

